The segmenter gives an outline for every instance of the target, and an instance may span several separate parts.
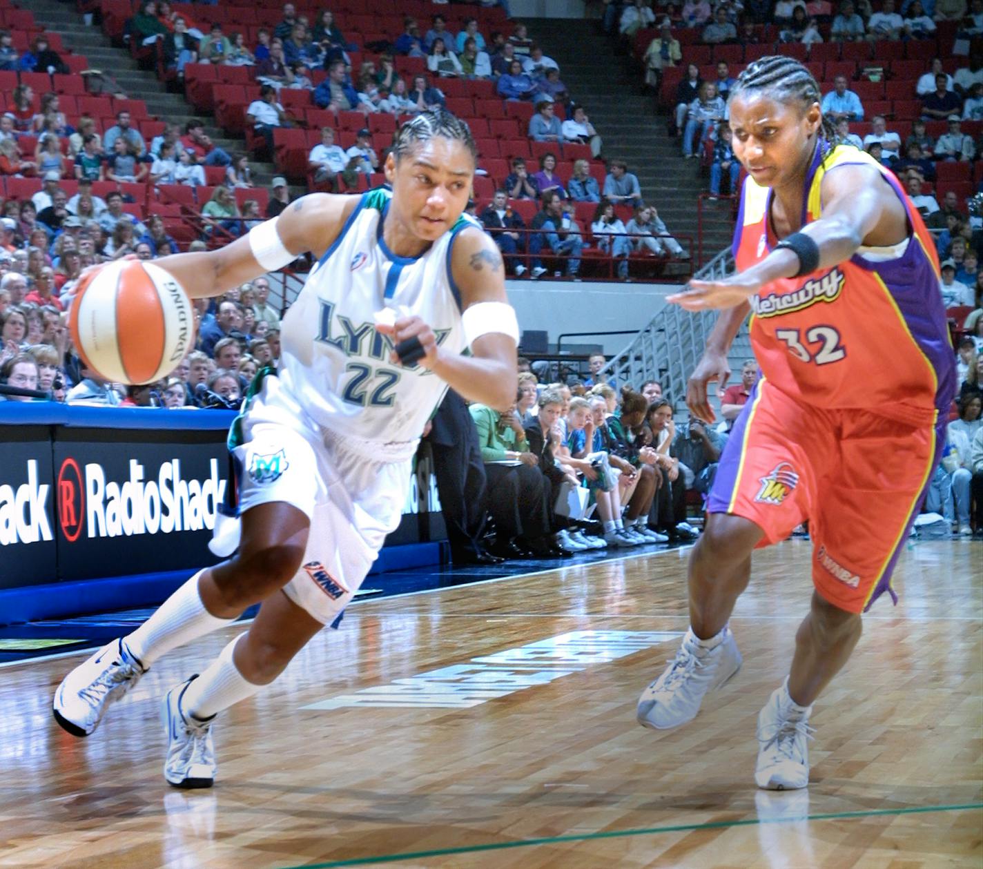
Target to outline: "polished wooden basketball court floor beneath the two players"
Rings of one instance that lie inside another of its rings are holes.
[[[635,701],[686,628],[686,552],[350,609],[215,727],[218,781],[162,779],[158,662],[86,740],[51,719],[75,655],[0,669],[0,867],[611,869],[983,864],[983,546],[907,550],[820,699],[807,791],[754,786],[755,720],[808,607],[809,544],[755,556],[744,667],[691,724]],[[437,670],[437,672],[434,672]]]

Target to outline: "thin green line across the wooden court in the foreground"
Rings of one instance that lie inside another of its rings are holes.
[[[803,818],[748,818],[744,821],[713,821],[707,824],[676,824],[671,827],[649,827],[641,830],[610,830],[601,833],[583,833],[571,836],[545,836],[541,839],[517,841],[492,841],[486,844],[462,845],[452,848],[434,848],[430,851],[408,851],[402,854],[377,854],[374,857],[356,857],[349,860],[332,860],[329,863],[303,863],[281,869],[336,869],[340,866],[369,866],[376,863],[395,863],[399,860],[421,860],[425,857],[446,857],[451,854],[472,854],[481,851],[498,851],[505,848],[531,847],[540,844],[559,844],[567,841],[622,839],[628,836],[654,836],[659,833],[686,833],[693,830],[721,830],[727,827],[754,827],[759,824],[778,824],[788,821],[835,821],[842,818],[873,818],[879,815],[917,815],[926,812],[959,812],[967,809],[983,809],[983,802],[964,805],[913,806],[906,809],[870,809],[858,812],[829,812],[806,815]]]

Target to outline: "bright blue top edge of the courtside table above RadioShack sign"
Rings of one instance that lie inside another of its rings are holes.
[[[82,407],[55,402],[0,402],[0,425],[81,429],[156,429],[224,432],[234,410],[169,411],[159,407]]]

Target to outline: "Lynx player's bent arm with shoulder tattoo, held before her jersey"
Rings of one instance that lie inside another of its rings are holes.
[[[429,368],[437,377],[446,381],[452,389],[468,401],[476,401],[496,409],[503,409],[515,401],[518,388],[516,366],[517,337],[495,328],[496,319],[502,315],[512,317],[512,325],[502,319],[500,324],[508,331],[515,330],[514,315],[507,306],[505,296],[505,266],[501,254],[492,239],[477,227],[463,229],[454,242],[451,257],[451,275],[461,294],[465,332],[469,333],[469,321],[478,319],[481,312],[486,318],[484,334],[471,341],[472,356],[461,356],[441,350],[428,323],[418,317],[397,319],[392,326],[378,325],[379,331],[391,334],[398,345],[402,341],[417,338],[424,355],[419,364]],[[484,309],[474,306],[492,303]],[[395,353],[392,361],[398,362]]]

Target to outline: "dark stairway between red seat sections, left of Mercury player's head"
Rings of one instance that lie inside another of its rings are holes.
[[[560,68],[560,79],[581,103],[604,140],[606,159],[620,158],[638,176],[646,203],[655,204],[669,232],[697,238],[697,200],[708,189],[696,160],[684,160],[678,139],[655,113],[641,71],[605,35],[596,20],[526,20],[530,35]],[[714,207],[725,210],[725,203]],[[730,242],[725,220],[715,217],[704,235],[710,260]],[[695,254],[695,251],[694,251]]]

